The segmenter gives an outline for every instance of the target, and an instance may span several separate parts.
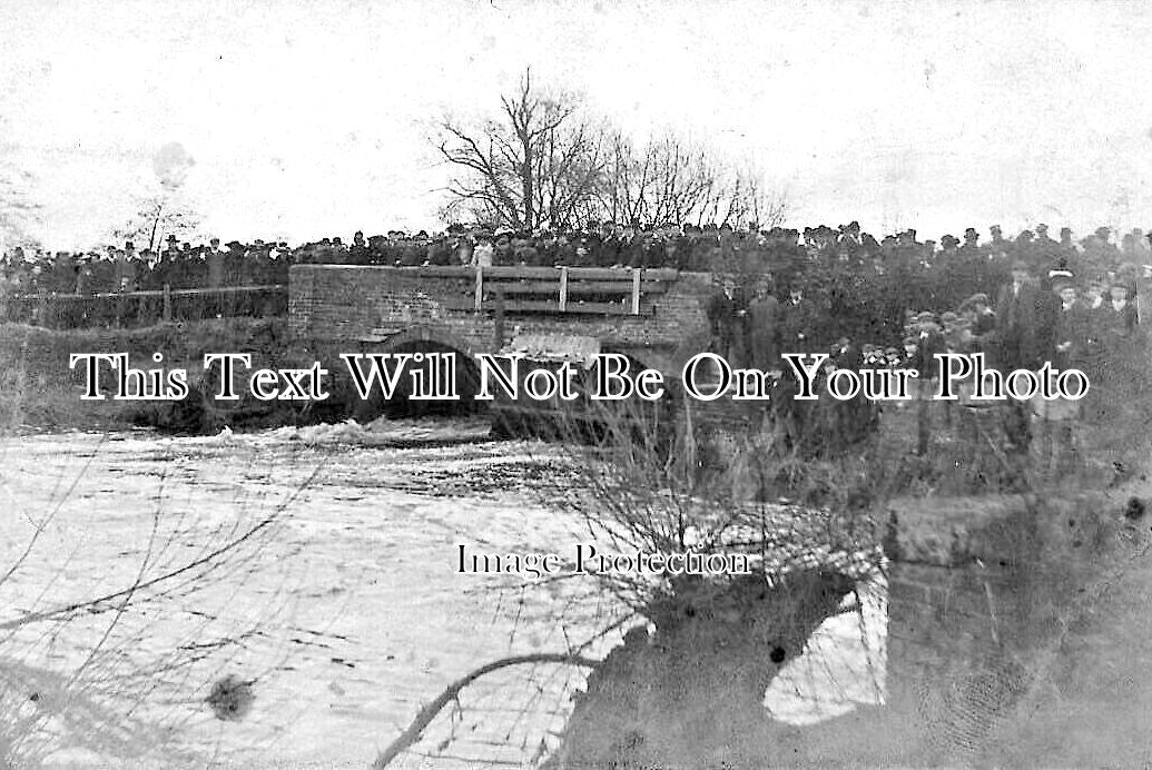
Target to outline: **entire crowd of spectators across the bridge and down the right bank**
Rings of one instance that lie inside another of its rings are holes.
[[[1138,300],[1152,277],[1150,239],[1132,230],[1117,243],[1108,228],[1079,239],[1063,228],[1054,239],[1041,223],[1014,238],[993,226],[984,242],[975,228],[939,242],[920,241],[915,230],[878,241],[857,222],[803,231],[607,222],[536,234],[454,226],[432,236],[356,232],[347,244],[334,237],[295,247],[259,239],[221,246],[217,238],[194,246],[169,236],[158,251],[137,251],[132,242],[86,253],[13,249],[0,259],[0,308],[13,295],[43,300],[164,287],[283,285],[294,264],[674,268],[715,276],[706,307],[710,344],[734,365],[770,371],[780,367],[782,352],[827,351],[826,374],[864,366],[931,373],[934,353],[982,352],[1005,372],[1052,361],[1099,381],[1106,361],[1109,372],[1143,364]],[[217,304],[253,312],[279,306],[237,305],[230,297]],[[217,304],[210,310],[220,310]],[[105,321],[119,325],[122,314],[118,308]],[[101,317],[81,303],[67,318],[90,323]],[[783,417],[797,436],[848,445],[842,434],[869,429],[872,414],[841,410],[833,429],[819,432],[805,428],[803,410]],[[1008,433],[1026,444],[1025,420],[1017,417],[1022,425]]]

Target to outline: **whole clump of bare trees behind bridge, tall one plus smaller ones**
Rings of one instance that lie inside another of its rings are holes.
[[[582,114],[575,98],[539,92],[531,70],[500,107],[497,120],[477,129],[439,124],[437,151],[457,171],[441,209],[446,220],[464,214],[531,230],[589,220],[771,227],[783,218],[783,198],[768,195],[751,167],[670,132],[637,147]]]

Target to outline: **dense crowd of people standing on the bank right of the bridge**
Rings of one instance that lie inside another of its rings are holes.
[[[1046,363],[1077,368],[1096,386],[1083,403],[1044,404],[1037,416],[1036,404],[1014,402],[1005,411],[1005,447],[1028,450],[1039,425],[1060,457],[1053,467],[1075,453],[1069,417],[1099,424],[1143,382],[1138,299],[1152,276],[1152,250],[1142,232],[1116,246],[1102,228],[1079,244],[1068,230],[1059,242],[1043,226],[1040,237],[1008,241],[993,228],[988,244],[969,230],[963,244],[946,236],[941,249],[909,232],[877,251],[843,230],[825,234],[823,247],[810,243],[798,266],[776,260],[743,287],[740,273],[729,274],[708,305],[713,351],[761,371],[786,369],[785,352],[827,352],[821,382],[838,368],[915,369],[920,455],[932,433],[938,353],[982,353],[1005,374]],[[779,382],[786,391],[795,384]],[[772,409],[789,442],[844,448],[876,426],[877,404],[863,394],[849,403],[788,396]],[[952,407],[943,410],[950,419]]]

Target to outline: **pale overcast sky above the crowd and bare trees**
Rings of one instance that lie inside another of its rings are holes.
[[[157,190],[225,241],[441,223],[426,140],[525,66],[755,161],[796,226],[1152,227],[1152,3],[0,0],[0,160],[88,246]]]

